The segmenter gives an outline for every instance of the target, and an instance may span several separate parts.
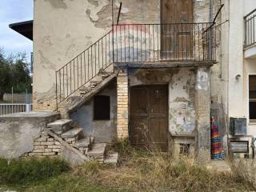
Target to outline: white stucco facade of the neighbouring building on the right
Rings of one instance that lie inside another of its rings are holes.
[[[249,118],[249,75],[255,74],[256,60],[250,48],[244,49],[244,17],[255,9],[256,2],[238,0],[222,3],[225,6],[221,17],[219,69],[214,71],[217,66],[212,68],[212,100],[218,101],[218,104],[214,103],[212,110],[218,110],[220,135],[223,147],[226,148],[227,138],[250,143],[250,138],[256,134],[254,123]],[[230,118],[246,118],[246,135],[234,137],[230,134]]]

